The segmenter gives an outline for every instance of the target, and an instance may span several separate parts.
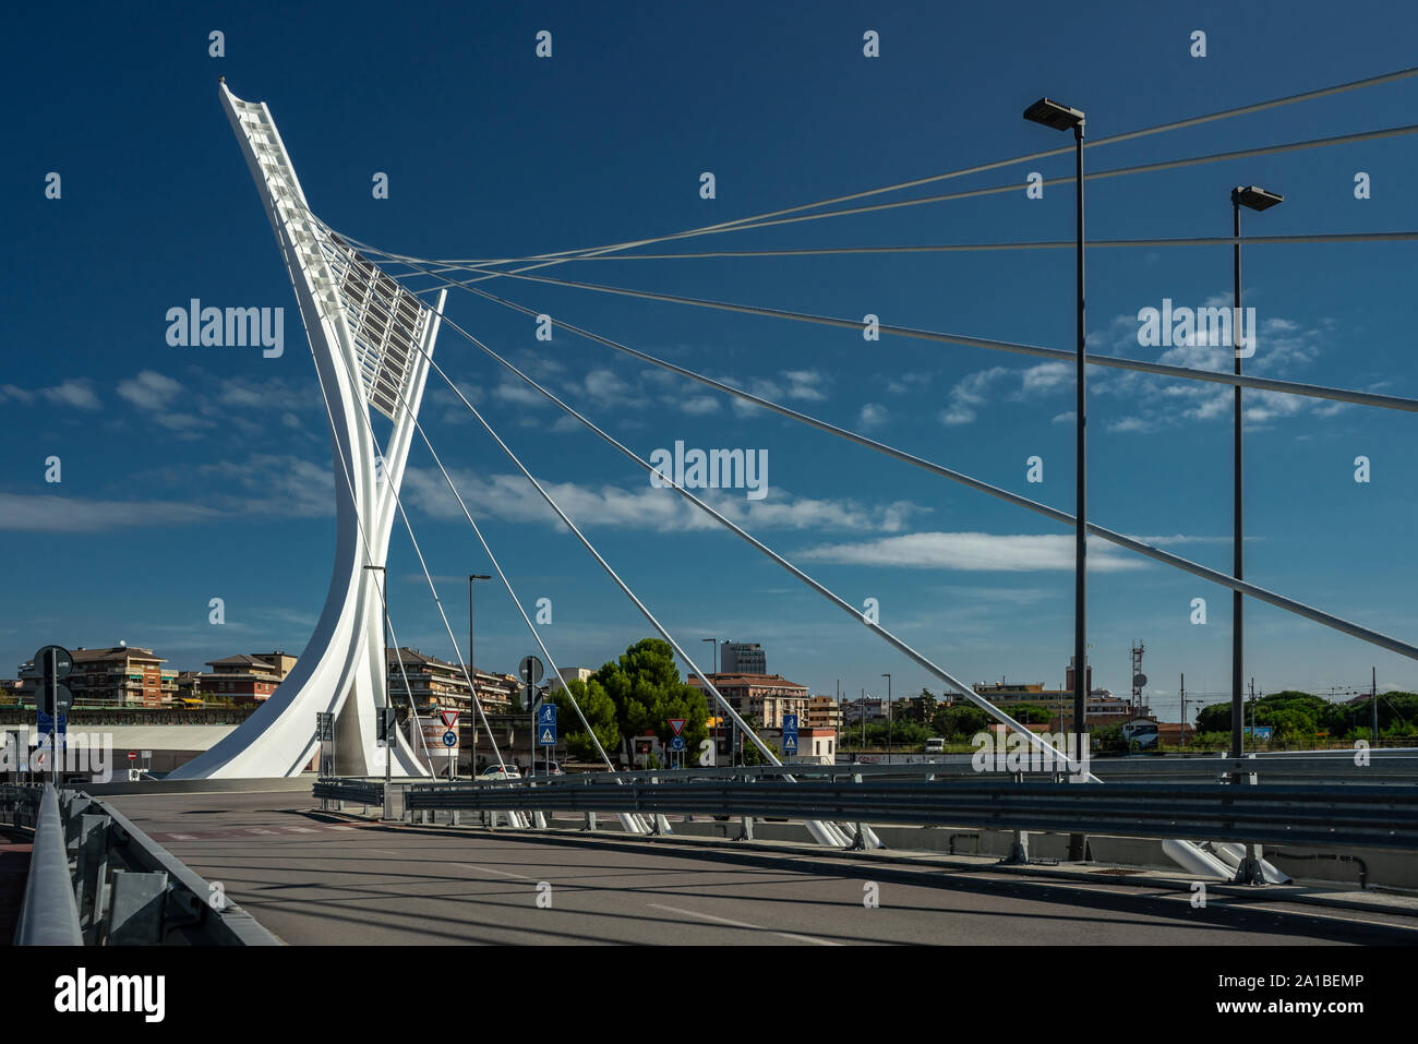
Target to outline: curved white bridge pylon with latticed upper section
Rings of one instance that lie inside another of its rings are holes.
[[[230,736],[172,777],[296,776],[319,750],[320,711],[335,713],[339,773],[381,776],[387,756],[376,739],[387,671],[381,567],[447,291],[425,308],[335,235],[306,204],[267,106],[241,101],[225,84],[221,104],[271,218],[330,410],[335,573],[315,634],[291,674]],[[393,421],[383,460],[370,407]],[[391,753],[391,774],[428,774],[401,733]]]

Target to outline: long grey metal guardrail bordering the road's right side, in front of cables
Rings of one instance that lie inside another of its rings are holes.
[[[798,766],[793,766],[798,767]],[[1211,841],[1418,850],[1418,789],[1234,783],[801,779],[797,783],[421,783],[407,807],[905,823]]]

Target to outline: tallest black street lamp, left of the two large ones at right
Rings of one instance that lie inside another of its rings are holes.
[[[1078,267],[1078,359],[1075,394],[1075,532],[1073,532],[1073,733],[1083,749],[1083,712],[1088,699],[1088,383],[1083,355],[1083,112],[1048,98],[1039,98],[1024,111],[1024,118],[1055,130],[1073,130],[1073,206],[1078,218],[1075,254]],[[1081,853],[1082,855],[1082,853]]]

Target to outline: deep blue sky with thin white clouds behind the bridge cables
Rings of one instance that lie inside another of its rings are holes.
[[[614,14],[611,13],[614,10]],[[313,210],[330,226],[417,257],[520,257],[594,247],[1065,145],[1020,113],[1049,95],[1100,138],[1358,79],[1412,64],[1402,4],[1286,4],[1154,11],[1090,4],[150,4],[10,16],[0,78],[11,150],[0,166],[4,268],[0,533],[9,596],[0,665],[41,644],[155,647],[180,668],[238,651],[298,652],[329,582],[330,451],[289,281],[217,98],[225,75],[265,101]],[[208,33],[225,57],[208,57]],[[536,58],[535,34],[553,34]],[[881,57],[862,34],[881,34]],[[1188,55],[1194,30],[1207,57]],[[1089,150],[1090,169],[1411,122],[1418,79]],[[699,174],[716,176],[716,199]],[[1071,172],[1058,156],[916,194],[1018,182],[1018,191],[685,240],[749,250],[1065,240],[1068,186],[1029,200],[1024,177]],[[1248,216],[1259,234],[1418,227],[1412,136],[1090,182],[1095,238],[1225,235],[1228,191],[1263,184],[1286,203]],[[62,194],[45,199],[45,174]],[[390,179],[372,197],[374,172]],[[1356,172],[1373,194],[1356,200]],[[885,199],[903,199],[898,193]],[[1248,370],[1418,394],[1411,243],[1254,245],[1246,304],[1261,342]],[[1201,305],[1231,288],[1227,247],[1095,250],[1089,348],[1140,348],[1136,315],[1163,298]],[[1069,251],[569,264],[550,274],[689,296],[1072,348]],[[1072,377],[1017,355],[587,291],[499,281],[505,296],[631,346],[865,430],[971,475],[1072,511]],[[172,348],[164,315],[189,299],[284,306],[285,353]],[[454,292],[448,313],[525,363],[648,455],[766,450],[770,494],[716,504],[967,681],[1059,685],[1072,650],[1071,535],[954,484],[828,435],[733,406],[529,318]],[[661,620],[691,648],[761,641],[769,670],[851,694],[940,685],[732,535],[708,528],[554,411],[508,384],[451,331],[435,357],[485,409]],[[1224,350],[1167,360],[1225,367]],[[431,379],[428,433],[543,637],[563,665],[597,667],[649,634],[580,546]],[[1222,386],[1090,373],[1090,515],[1229,569],[1231,406]],[[1254,396],[1248,417],[1248,576],[1380,631],[1411,638],[1408,556],[1418,478],[1412,418]],[[62,482],[44,481],[48,455]],[[1042,484],[1025,460],[1044,458]],[[1373,481],[1353,481],[1354,457]],[[491,572],[415,450],[407,505],[455,633],[468,572]],[[1099,546],[1090,574],[1096,681],[1127,688],[1147,645],[1154,706],[1176,716],[1177,678],[1221,694],[1229,593]],[[390,556],[401,644],[450,655],[407,538]],[[211,597],[227,623],[207,621]],[[1208,623],[1190,623],[1207,599]],[[479,589],[479,667],[513,670],[530,637]],[[1411,661],[1266,606],[1248,611],[1256,687],[1324,689],[1368,679],[1418,688]],[[0,667],[3,672],[3,667]]]

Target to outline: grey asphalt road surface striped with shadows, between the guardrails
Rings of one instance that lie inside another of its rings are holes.
[[[1195,909],[1187,894],[1106,881],[350,824],[291,793],[111,800],[292,945],[1418,942],[1415,919],[1222,896]]]

